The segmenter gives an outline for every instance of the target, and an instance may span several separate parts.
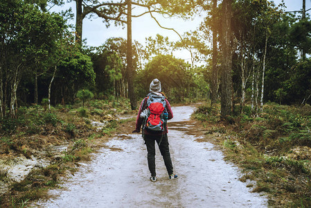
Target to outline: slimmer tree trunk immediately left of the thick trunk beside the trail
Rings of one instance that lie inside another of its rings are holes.
[[[217,0],[213,0],[213,11],[217,9]],[[211,80],[211,107],[217,102],[218,71],[217,71],[217,30],[215,28],[216,18],[213,18],[213,58],[212,58],[212,80]]]

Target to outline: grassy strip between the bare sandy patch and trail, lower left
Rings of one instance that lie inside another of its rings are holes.
[[[64,176],[66,171],[71,173],[75,168],[71,168],[71,163],[82,159],[89,159],[92,152],[81,140],[76,142],[70,153],[62,158],[61,161],[50,164],[44,168],[33,169],[21,182],[13,182],[10,185],[10,192],[2,198],[1,205],[4,207],[26,207],[28,202],[39,200],[46,197],[48,189],[53,189],[60,184],[60,176]],[[11,203],[8,203],[8,200]]]

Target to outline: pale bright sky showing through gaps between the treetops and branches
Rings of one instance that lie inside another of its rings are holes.
[[[274,3],[278,5],[282,0],[274,0]],[[285,0],[286,11],[302,10],[303,0]],[[75,12],[75,1],[66,3],[66,6],[59,8],[53,8],[53,10],[66,10],[67,8],[73,8]],[[306,0],[306,10],[311,8],[311,0]],[[310,11],[308,11],[310,14]],[[156,16],[156,15],[154,15]],[[199,24],[204,19],[204,13],[193,16],[188,21],[178,18],[163,18],[158,16],[159,22],[162,26],[167,28],[175,28],[179,34],[183,34],[187,31],[195,31]],[[71,21],[71,24],[75,24],[75,20]],[[145,44],[146,37],[155,37],[157,34],[169,37],[170,41],[179,40],[179,36],[174,31],[168,31],[160,28],[157,23],[150,17],[150,15],[143,15],[142,17],[132,18],[132,40],[137,40],[141,44]],[[89,46],[101,46],[109,37],[123,37],[127,38],[126,26],[123,29],[122,26],[114,26],[112,24],[109,28],[106,28],[102,19],[95,16],[91,18],[83,19],[82,39],[87,40]],[[177,58],[183,58],[186,61],[190,60],[190,54],[186,51],[178,51],[174,55]]]

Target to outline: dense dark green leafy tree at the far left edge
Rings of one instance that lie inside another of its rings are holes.
[[[60,15],[42,12],[36,6],[19,0],[1,1],[0,21],[0,116],[6,114],[6,105],[14,116],[17,89],[23,75],[42,67],[67,26]]]

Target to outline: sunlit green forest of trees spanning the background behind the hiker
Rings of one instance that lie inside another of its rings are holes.
[[[113,37],[103,46],[89,47],[80,40],[82,20],[69,26],[66,20],[73,13],[48,12],[53,3],[64,2],[1,3],[1,118],[44,101],[73,103],[81,89],[96,98],[130,98],[134,109],[136,97],[144,96],[154,77],[172,101],[221,101],[222,116],[245,103],[254,112],[267,102],[310,103],[311,25],[301,12],[283,12],[282,5],[270,1],[189,1],[183,7],[179,1],[132,2],[150,14],[188,18],[204,10],[206,17],[197,31],[181,34],[178,42],[158,34],[145,44],[131,41],[129,46]],[[87,3],[76,19],[90,12],[103,17],[107,26],[112,21],[126,25],[130,19],[127,2]],[[190,51],[191,63],[172,56],[179,49]]]

